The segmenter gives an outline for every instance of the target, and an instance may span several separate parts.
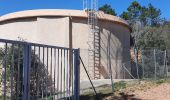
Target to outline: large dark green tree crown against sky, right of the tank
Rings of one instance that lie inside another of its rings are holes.
[[[159,26],[163,20],[160,16],[160,9],[155,8],[152,4],[141,6],[137,1],[132,2],[127,11],[120,15],[125,20],[138,20],[148,26]]]

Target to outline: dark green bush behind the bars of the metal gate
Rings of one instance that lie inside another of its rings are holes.
[[[0,67],[2,67],[2,64],[5,61],[5,47],[0,48],[0,61],[2,62]],[[13,56],[12,56],[13,55]],[[6,67],[6,81],[7,81],[7,87],[10,87],[10,81],[11,77],[13,79],[13,90],[12,90],[12,97],[16,99],[17,97],[22,97],[23,92],[23,46],[20,45],[8,45],[7,47],[7,67]],[[12,67],[12,58],[14,67]],[[36,83],[39,82],[39,84],[44,83],[44,80],[49,81],[50,80],[50,74],[47,74],[48,71],[46,67],[43,65],[42,62],[39,62],[38,55],[34,54],[34,51],[31,51],[31,68],[30,68],[30,95],[31,97],[37,96],[37,88],[39,88],[39,91],[43,91],[46,89],[46,86],[39,85],[36,86]],[[19,65],[19,66],[18,66]],[[39,66],[39,67],[38,67]],[[13,70],[13,71],[11,71]],[[13,72],[13,73],[12,73]],[[20,75],[18,75],[20,74]],[[38,75],[41,75],[40,77]],[[48,75],[48,76],[47,76]],[[3,74],[0,75],[0,85],[3,86]],[[46,84],[47,88],[50,88],[50,84]],[[7,88],[7,94],[10,93],[10,89]],[[48,94],[48,93],[47,93]],[[0,99],[1,100],[1,99]]]

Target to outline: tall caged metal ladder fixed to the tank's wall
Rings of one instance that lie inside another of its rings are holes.
[[[90,28],[88,38],[88,71],[92,79],[100,79],[100,32],[98,27],[98,1],[97,0],[84,0],[84,10],[87,11],[88,25]]]

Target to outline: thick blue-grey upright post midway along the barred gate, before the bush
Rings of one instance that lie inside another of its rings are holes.
[[[23,96],[22,100],[30,100],[30,66],[31,66],[31,46],[24,44],[23,48]]]

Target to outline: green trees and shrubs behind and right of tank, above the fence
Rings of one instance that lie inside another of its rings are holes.
[[[99,8],[107,14],[117,15],[114,8],[105,4]],[[133,1],[120,17],[127,20],[132,28],[131,46],[137,50],[170,48],[170,22],[161,17],[161,10],[152,4],[142,6]]]

